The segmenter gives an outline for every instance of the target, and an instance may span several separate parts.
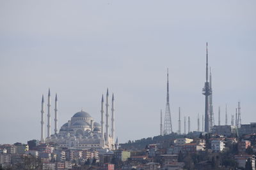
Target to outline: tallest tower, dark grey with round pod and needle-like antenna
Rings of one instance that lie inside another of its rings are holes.
[[[204,131],[210,132],[209,126],[209,96],[211,95],[212,90],[208,82],[208,43],[206,43],[206,82],[203,89],[203,94],[205,96],[205,124]]]

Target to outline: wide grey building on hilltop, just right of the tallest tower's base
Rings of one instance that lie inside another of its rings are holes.
[[[212,133],[231,137],[236,135],[237,129],[235,126],[232,125],[214,125]]]

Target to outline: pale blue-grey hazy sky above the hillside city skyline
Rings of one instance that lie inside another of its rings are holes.
[[[167,68],[173,131],[179,107],[181,131],[185,116],[195,131],[206,42],[215,124],[218,106],[223,125],[227,104],[230,124],[238,101],[242,124],[256,122],[255,7],[253,0],[0,1],[0,144],[40,139],[49,87],[52,101],[58,94],[58,129],[81,108],[100,122],[109,88],[118,141],[157,136]]]

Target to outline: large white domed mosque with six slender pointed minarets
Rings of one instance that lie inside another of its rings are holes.
[[[63,124],[58,132],[58,99],[55,96],[54,134],[51,134],[51,92],[48,92],[47,103],[47,138],[44,138],[44,95],[42,96],[41,110],[41,143],[56,143],[60,147],[69,149],[118,149],[118,139],[115,142],[115,99],[111,103],[111,134],[109,134],[109,92],[106,94],[106,130],[104,129],[104,97],[101,100],[100,124],[93,120],[91,115],[83,110],[75,113],[67,123]]]

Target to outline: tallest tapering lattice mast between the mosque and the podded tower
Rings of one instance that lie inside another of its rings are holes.
[[[164,134],[172,133],[172,119],[169,103],[169,71],[167,69],[167,96],[166,96],[166,108],[164,115]]]

